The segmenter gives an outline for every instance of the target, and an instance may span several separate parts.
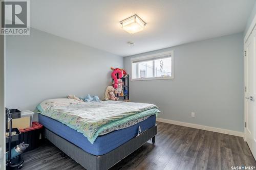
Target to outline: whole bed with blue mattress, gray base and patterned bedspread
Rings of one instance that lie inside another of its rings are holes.
[[[109,169],[157,134],[155,105],[46,100],[37,106],[45,137],[86,169]]]

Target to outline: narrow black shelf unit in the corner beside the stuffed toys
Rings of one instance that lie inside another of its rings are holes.
[[[129,75],[125,75],[125,77],[121,78],[122,80],[122,92],[115,94],[117,98],[119,98],[118,101],[124,101],[129,102]]]

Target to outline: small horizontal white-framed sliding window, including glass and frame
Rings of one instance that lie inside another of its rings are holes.
[[[131,59],[131,80],[174,78],[174,51]]]

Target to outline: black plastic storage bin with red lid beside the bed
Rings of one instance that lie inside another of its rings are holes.
[[[19,129],[21,134],[19,135],[19,141],[29,144],[29,147],[25,150],[31,151],[39,147],[42,137],[43,126],[38,122],[33,122],[31,128]]]

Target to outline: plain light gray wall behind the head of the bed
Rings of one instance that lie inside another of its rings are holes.
[[[8,36],[6,47],[6,106],[20,110],[68,94],[103,99],[110,67],[123,66],[122,57],[35,29]]]

